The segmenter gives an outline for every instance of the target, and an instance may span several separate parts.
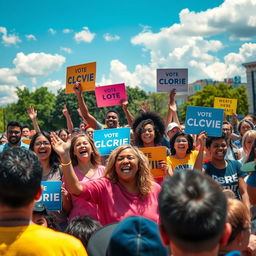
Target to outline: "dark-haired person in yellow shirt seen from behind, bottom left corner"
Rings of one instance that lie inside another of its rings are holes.
[[[41,178],[34,152],[13,147],[0,153],[0,255],[87,255],[78,239],[32,222]]]

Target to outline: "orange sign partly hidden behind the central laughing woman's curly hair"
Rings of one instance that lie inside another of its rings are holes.
[[[140,148],[140,151],[148,158],[151,173],[154,178],[163,178],[166,176],[166,171],[158,168],[160,160],[166,161],[165,147],[146,147]]]

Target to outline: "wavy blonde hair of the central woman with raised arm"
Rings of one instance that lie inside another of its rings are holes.
[[[139,193],[142,198],[147,196],[151,192],[152,184],[154,182],[151,175],[147,157],[137,148],[131,145],[122,145],[114,149],[106,165],[105,177],[110,179],[113,183],[118,182],[118,175],[116,173],[116,159],[118,155],[125,149],[131,149],[138,158],[138,171],[136,173],[136,184],[139,189]]]

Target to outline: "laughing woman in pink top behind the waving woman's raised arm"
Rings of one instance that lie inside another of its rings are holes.
[[[74,173],[80,182],[85,184],[89,180],[98,179],[105,174],[105,166],[100,165],[101,157],[99,151],[94,145],[93,140],[85,135],[75,136],[70,145],[70,159],[74,169]],[[64,187],[66,179],[63,179]],[[71,194],[71,204],[66,204],[67,212],[69,212],[69,221],[76,216],[89,215],[94,219],[98,219],[98,205],[85,201],[84,199]]]

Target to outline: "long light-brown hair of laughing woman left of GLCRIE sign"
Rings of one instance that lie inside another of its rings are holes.
[[[78,159],[77,159],[77,157],[74,154],[74,147],[75,147],[75,144],[76,144],[77,140],[79,138],[81,138],[81,137],[86,138],[86,140],[90,143],[90,145],[92,147],[92,153],[91,153],[90,161],[91,161],[91,164],[94,167],[97,167],[98,165],[101,164],[101,156],[100,156],[100,153],[99,153],[98,149],[96,148],[92,138],[87,136],[86,134],[78,134],[71,141],[70,158],[71,158],[71,161],[72,161],[72,165],[73,166],[77,166],[78,165]]]

